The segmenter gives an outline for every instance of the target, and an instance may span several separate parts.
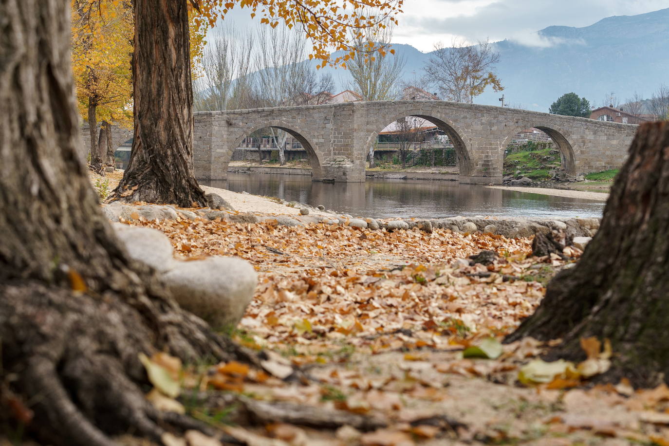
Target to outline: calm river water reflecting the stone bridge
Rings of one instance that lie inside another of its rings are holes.
[[[227,181],[205,185],[324,205],[354,217],[601,217],[603,201],[553,197],[460,185],[454,181],[381,180],[365,183],[314,183],[306,175],[228,173]]]

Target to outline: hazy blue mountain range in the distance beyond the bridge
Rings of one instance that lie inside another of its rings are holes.
[[[500,53],[497,74],[507,104],[548,111],[559,96],[575,92],[600,106],[612,92],[619,102],[639,92],[649,98],[660,84],[669,84],[669,8],[640,15],[601,19],[587,27],[549,26],[537,31],[542,46],[510,40],[494,45]],[[403,80],[420,78],[430,53],[411,45],[393,45],[407,60]],[[392,56],[389,56],[392,57]],[[347,88],[347,72],[325,68]],[[478,104],[499,105],[499,93],[486,91]]]

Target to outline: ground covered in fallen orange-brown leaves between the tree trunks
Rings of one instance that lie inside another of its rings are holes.
[[[448,229],[220,219],[132,224],[163,231],[181,257],[236,255],[260,276],[232,336],[266,352],[265,370],[234,362],[167,366],[181,376],[184,394],[215,388],[365,415],[383,426],[235,425],[224,407],[200,411],[149,395],[250,445],[669,445],[664,384],[645,391],[626,380],[588,384],[608,367],[607,344],[581,340],[587,360],[547,364],[538,359],[546,346],[531,338],[498,342],[541,302],[547,280],[573,266],[578,249],[567,248],[571,260],[563,261],[531,257],[531,239]],[[470,265],[467,257],[484,249],[498,257]]]

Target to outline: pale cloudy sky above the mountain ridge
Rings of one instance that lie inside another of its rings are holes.
[[[393,41],[432,51],[454,37],[474,43],[514,39],[543,45],[536,31],[550,25],[587,26],[611,15],[635,15],[669,7],[669,0],[405,0]],[[256,17],[257,18],[257,17]],[[248,9],[233,9],[225,21],[254,26]]]

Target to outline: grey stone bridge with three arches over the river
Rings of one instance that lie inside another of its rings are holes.
[[[365,159],[377,135],[405,116],[425,118],[448,134],[458,153],[461,183],[501,183],[504,149],[527,128],[539,128],[551,136],[563,167],[572,175],[621,166],[637,128],[512,108],[420,100],[197,112],[195,176],[226,179],[227,165],[242,140],[260,128],[276,127],[302,143],[314,181],[362,182]]]

